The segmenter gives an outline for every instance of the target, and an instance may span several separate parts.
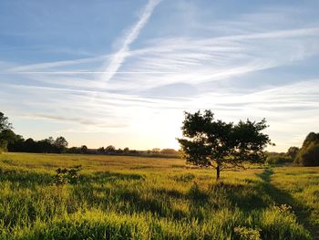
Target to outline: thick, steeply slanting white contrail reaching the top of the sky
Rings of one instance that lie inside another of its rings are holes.
[[[124,39],[122,47],[118,49],[110,59],[108,67],[104,71],[102,80],[108,81],[118,72],[118,68],[122,65],[125,58],[129,55],[129,45],[134,42],[134,40],[139,37],[140,30],[148,23],[149,16],[151,16],[156,5],[160,3],[161,0],[149,0],[148,5],[145,6],[141,15],[139,16],[139,21],[129,29],[129,33]]]

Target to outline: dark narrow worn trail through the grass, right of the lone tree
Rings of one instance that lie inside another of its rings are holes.
[[[314,239],[319,239],[319,227],[309,223],[311,209],[294,199],[292,194],[279,189],[271,183],[273,170],[267,169],[256,175],[262,179],[263,182],[260,183],[261,187],[263,188],[263,191],[273,199],[273,202],[290,205],[293,208],[293,212],[296,215],[298,222],[304,225],[304,228],[314,236]]]

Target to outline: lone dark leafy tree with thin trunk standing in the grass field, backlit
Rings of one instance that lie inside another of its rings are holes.
[[[203,114],[185,112],[181,127],[184,138],[178,139],[187,162],[216,168],[216,179],[225,167],[242,166],[242,162],[262,162],[263,149],[272,144],[262,133],[266,120],[246,120],[238,124],[214,120],[211,110]]]

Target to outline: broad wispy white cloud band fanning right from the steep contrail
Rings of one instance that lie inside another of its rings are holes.
[[[319,53],[319,28],[289,29],[229,37],[167,37],[130,51],[117,80],[106,89],[152,89],[172,83],[201,84],[293,64]],[[145,73],[148,72],[149,73]],[[151,72],[162,74],[152,74]],[[165,73],[165,72],[171,73]]]

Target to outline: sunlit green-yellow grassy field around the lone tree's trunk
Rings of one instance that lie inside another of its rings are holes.
[[[81,165],[79,183],[55,184]],[[3,153],[1,239],[319,239],[319,168]]]

